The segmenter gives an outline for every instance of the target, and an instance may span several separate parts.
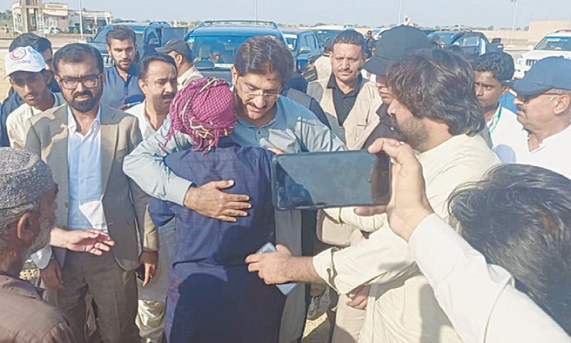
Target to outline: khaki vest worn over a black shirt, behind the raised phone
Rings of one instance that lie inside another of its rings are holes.
[[[308,94],[313,96],[325,111],[325,115],[335,132],[345,142],[349,150],[362,149],[375,127],[380,123],[377,110],[383,104],[375,84],[363,80],[355,105],[349,112],[343,126],[339,125],[335,105],[333,104],[333,89],[327,88],[329,76],[308,84]],[[318,211],[317,237],[321,242],[346,247],[363,239],[359,229],[348,224],[340,224],[325,212]]]

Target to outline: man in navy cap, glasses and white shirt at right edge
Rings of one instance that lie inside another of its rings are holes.
[[[523,79],[510,82],[516,92],[517,121],[523,127],[514,154],[498,153],[504,162],[532,164],[571,179],[571,60],[547,57]]]

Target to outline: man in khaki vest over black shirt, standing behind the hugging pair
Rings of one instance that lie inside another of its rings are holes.
[[[319,101],[331,129],[350,150],[365,147],[365,141],[380,122],[376,111],[383,103],[375,83],[361,76],[365,49],[365,39],[357,31],[341,32],[333,40],[331,74],[308,85],[308,94]],[[321,242],[336,247],[348,247],[365,239],[360,229],[340,224],[323,211],[318,212],[317,236]],[[368,288],[363,292],[368,292]],[[365,311],[348,307],[350,300],[345,294],[339,296],[333,343],[358,342]]]

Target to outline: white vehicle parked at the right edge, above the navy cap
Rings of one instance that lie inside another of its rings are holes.
[[[514,77],[522,78],[535,62],[550,56],[563,56],[566,59],[571,59],[570,29],[548,34],[536,46],[530,46],[530,51],[524,52],[515,61]]]

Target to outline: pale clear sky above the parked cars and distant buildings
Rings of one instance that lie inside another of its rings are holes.
[[[383,26],[398,21],[401,0],[81,0],[88,10],[111,11],[114,18],[196,21],[258,19],[283,24],[363,24]],[[14,1],[0,0],[0,9]],[[79,0],[67,3],[79,9]],[[402,0],[403,16],[420,26],[464,24],[511,27],[515,3],[510,0]],[[517,26],[530,19],[571,20],[571,0],[518,0]]]

